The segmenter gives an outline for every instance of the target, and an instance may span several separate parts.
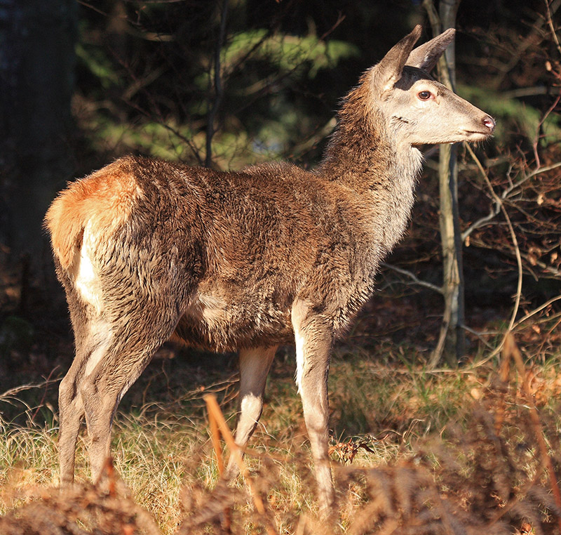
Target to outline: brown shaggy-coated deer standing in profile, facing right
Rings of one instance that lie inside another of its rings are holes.
[[[75,341],[59,390],[61,488],[74,482],[83,418],[91,475],[100,476],[119,402],[165,341],[238,352],[241,449],[262,414],[276,350],[294,343],[318,502],[330,510],[334,341],[405,232],[419,145],[480,142],[494,131],[489,114],[428,74],[454,32],[414,48],[417,25],[366,70],[311,171],[127,156],[58,194],[45,221]]]

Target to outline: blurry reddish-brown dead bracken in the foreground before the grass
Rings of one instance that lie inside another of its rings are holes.
[[[448,425],[374,466],[368,463],[372,437],[334,443],[337,506],[327,523],[320,522],[313,503],[295,506],[286,499],[290,489],[282,472],[287,465],[299,477],[300,489],[313,487],[306,452],[249,451],[236,484],[222,478],[209,484],[203,478],[186,485],[177,501],[181,520],[166,533],[560,533],[558,422],[554,411],[536,407],[535,378],[509,338],[499,370],[472,392],[478,399],[466,423]],[[210,410],[211,423],[220,417]],[[215,444],[218,430],[231,442],[227,427],[211,428]],[[222,456],[219,447],[215,452]],[[191,465],[208,463],[208,454]],[[9,488],[3,489],[5,503],[8,494]],[[64,493],[20,488],[11,499],[25,503],[0,517],[0,534],[161,535],[154,517],[131,494],[111,465],[96,485],[79,484]]]

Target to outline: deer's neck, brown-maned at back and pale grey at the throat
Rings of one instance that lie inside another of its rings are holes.
[[[400,141],[361,89],[346,98],[318,174],[360,196],[372,239],[390,251],[409,220],[422,157]]]

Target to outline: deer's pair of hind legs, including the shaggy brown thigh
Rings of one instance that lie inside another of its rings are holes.
[[[100,476],[110,454],[117,406],[175,329],[191,282],[180,284],[171,277],[167,263],[142,269],[142,258],[133,256],[137,249],[124,258],[110,251],[105,263],[93,251],[85,237],[75,280],[67,286],[69,306],[75,311],[76,359],[60,391],[61,480],[65,482],[72,482],[83,416],[93,480]]]

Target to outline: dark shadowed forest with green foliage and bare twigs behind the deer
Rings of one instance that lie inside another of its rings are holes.
[[[478,161],[459,147],[467,358],[508,325],[536,359],[559,352],[560,4],[459,5],[457,92],[497,120]],[[41,227],[69,180],[131,152],[313,167],[339,99],[417,23],[433,37],[406,0],[0,0],[0,389],[72,359]],[[408,235],[345,341],[368,358],[428,359],[438,338],[438,147],[424,152]]]

